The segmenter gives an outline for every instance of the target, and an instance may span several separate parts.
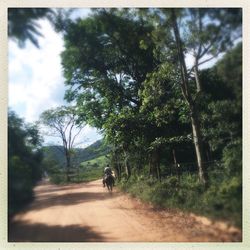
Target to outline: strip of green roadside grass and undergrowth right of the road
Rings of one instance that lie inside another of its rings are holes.
[[[195,175],[164,178],[161,182],[144,176],[122,179],[118,187],[159,208],[193,212],[242,227],[241,177],[214,181],[205,189]]]

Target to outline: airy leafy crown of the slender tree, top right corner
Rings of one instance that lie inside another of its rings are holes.
[[[184,42],[187,50],[193,50],[198,59],[229,50],[235,37],[242,33],[240,8],[188,8],[183,12],[186,17],[182,25]]]

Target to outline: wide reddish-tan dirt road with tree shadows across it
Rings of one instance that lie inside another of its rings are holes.
[[[46,181],[35,200],[9,225],[17,242],[218,242],[241,241],[223,223],[173,211],[159,211],[128,195],[108,193],[101,181],[65,186]]]

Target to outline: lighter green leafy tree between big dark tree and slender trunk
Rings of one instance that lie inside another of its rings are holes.
[[[160,169],[157,166],[160,165],[161,154],[168,154],[169,157],[169,151],[172,155],[177,148],[185,148],[185,144],[191,142],[188,106],[181,98],[179,80],[175,65],[162,63],[157,71],[148,74],[144,88],[140,92],[142,99],[140,112],[147,120],[144,124],[148,123],[147,129],[143,132],[149,152],[153,156],[151,160],[156,166],[151,165],[158,173]],[[192,155],[190,154],[189,161],[193,159]],[[172,158],[171,164],[173,164]],[[174,156],[174,164],[175,161]]]

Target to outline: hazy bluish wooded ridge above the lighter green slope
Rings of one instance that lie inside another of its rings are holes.
[[[90,161],[100,156],[107,155],[110,148],[104,145],[103,140],[98,140],[86,148],[75,148],[75,155],[72,157],[73,165],[81,162]],[[60,166],[65,166],[65,156],[62,146],[46,146],[43,148],[44,158],[50,158],[58,162]]]

